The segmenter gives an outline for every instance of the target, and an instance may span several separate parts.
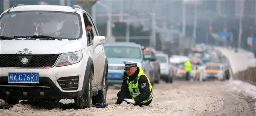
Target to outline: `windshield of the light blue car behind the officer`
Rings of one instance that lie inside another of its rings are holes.
[[[141,52],[136,47],[105,46],[107,58],[141,58]]]

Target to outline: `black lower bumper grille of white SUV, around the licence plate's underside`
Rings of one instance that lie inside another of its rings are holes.
[[[39,77],[39,83],[8,83],[7,76],[0,77],[1,90],[24,90],[24,91],[44,91],[51,88],[52,80],[49,77]]]

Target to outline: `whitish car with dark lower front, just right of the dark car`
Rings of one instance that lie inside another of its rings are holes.
[[[160,67],[161,67],[160,78],[165,82],[172,82],[173,69],[172,69],[172,65],[170,65],[169,63],[168,55],[164,53],[157,53],[156,58],[160,62]]]

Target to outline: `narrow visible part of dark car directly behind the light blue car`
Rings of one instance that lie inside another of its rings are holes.
[[[156,50],[152,47],[148,47],[148,50],[150,52],[150,55],[152,59],[150,60],[150,64],[154,69],[154,81],[155,83],[159,83],[160,81],[160,62],[156,58]]]

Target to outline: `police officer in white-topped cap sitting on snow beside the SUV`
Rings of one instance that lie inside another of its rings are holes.
[[[153,90],[149,78],[136,62],[123,61],[124,81],[121,91],[117,93],[117,104],[131,103],[149,105],[153,98]]]

